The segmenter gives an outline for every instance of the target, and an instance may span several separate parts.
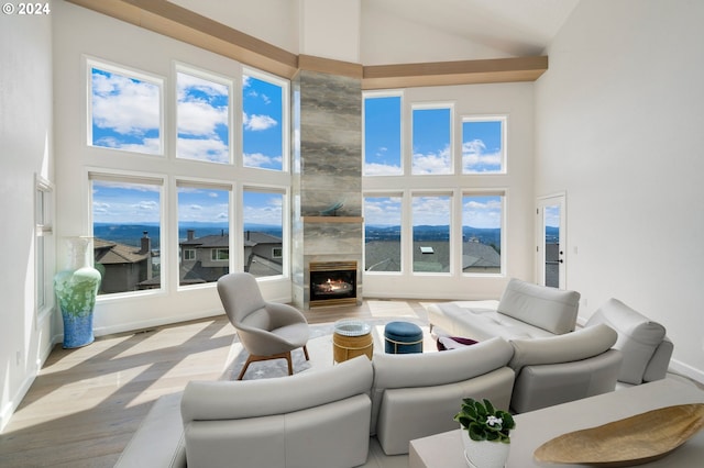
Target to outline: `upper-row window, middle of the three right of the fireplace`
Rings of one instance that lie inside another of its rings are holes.
[[[452,174],[452,109],[413,110],[413,174]]]

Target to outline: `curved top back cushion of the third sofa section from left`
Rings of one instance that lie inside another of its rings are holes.
[[[548,338],[512,339],[514,357],[508,366],[518,374],[524,366],[586,359],[608,350],[616,338],[612,327],[598,324]]]

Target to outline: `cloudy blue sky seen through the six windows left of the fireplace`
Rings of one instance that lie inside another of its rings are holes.
[[[103,67],[105,68],[105,67]],[[90,144],[124,152],[164,155],[163,82],[91,67]],[[176,74],[177,142],[173,157],[230,164],[232,145],[231,90],[228,80],[179,69]],[[282,170],[283,99],[280,86],[245,76],[242,86],[242,165]],[[157,186],[95,181],[94,222],[157,223]],[[244,222],[282,224],[282,196],[245,192]],[[228,221],[224,190],[178,189],[179,222]]]

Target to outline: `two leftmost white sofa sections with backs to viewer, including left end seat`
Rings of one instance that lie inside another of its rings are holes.
[[[463,398],[508,408],[513,356],[495,338],[274,379],[193,381],[156,401],[116,466],[354,467],[371,435],[386,454],[405,454],[411,438],[455,428]]]

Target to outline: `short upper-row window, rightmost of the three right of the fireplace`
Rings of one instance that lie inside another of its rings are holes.
[[[505,172],[506,118],[462,119],[462,172]]]

